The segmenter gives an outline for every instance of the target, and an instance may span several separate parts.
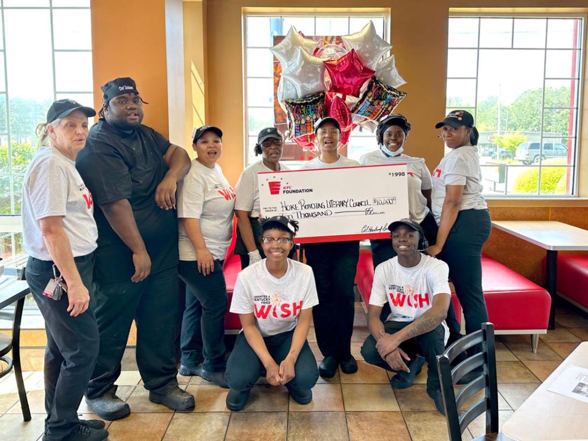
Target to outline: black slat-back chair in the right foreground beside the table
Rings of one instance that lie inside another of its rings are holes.
[[[467,357],[455,368],[451,368],[451,362],[457,356],[480,344],[482,352]],[[453,386],[464,375],[479,368],[483,368],[483,372],[455,395]],[[461,441],[463,431],[482,413],[486,413],[486,435],[477,437],[476,440],[499,440],[494,325],[482,323],[482,329],[460,338],[450,345],[442,355],[437,355],[437,370],[439,371],[450,441]],[[459,415],[459,409],[463,404],[480,390],[484,390],[484,397],[464,410],[462,415]]]

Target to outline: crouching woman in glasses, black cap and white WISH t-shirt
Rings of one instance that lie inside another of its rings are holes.
[[[226,406],[235,411],[246,405],[262,368],[270,385],[285,385],[300,404],[310,403],[319,377],[306,341],[319,303],[315,279],[310,266],[288,259],[298,224],[275,216],[260,228],[266,258],[239,273],[230,305],[243,326],[225,373]]]

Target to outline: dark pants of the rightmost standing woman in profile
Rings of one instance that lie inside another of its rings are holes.
[[[437,256],[449,265],[449,278],[462,305],[468,334],[479,330],[481,323],[488,321],[482,292],[482,246],[488,240],[491,228],[487,209],[460,211],[443,250]],[[455,339],[460,326],[452,305],[447,311],[446,323]]]

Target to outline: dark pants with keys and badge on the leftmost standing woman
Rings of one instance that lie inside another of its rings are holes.
[[[83,285],[92,289],[93,255],[74,259]],[[69,435],[79,424],[78,407],[98,355],[98,325],[91,308],[72,317],[66,293],[60,300],[45,297],[43,289],[53,277],[53,262],[29,257],[26,282],[45,319],[45,419],[47,440]],[[92,296],[92,294],[91,294]]]

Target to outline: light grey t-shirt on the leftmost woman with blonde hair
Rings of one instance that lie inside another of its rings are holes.
[[[22,181],[22,236],[25,251],[41,260],[53,260],[41,235],[39,219],[64,216],[62,224],[74,257],[96,249],[98,228],[92,193],[75,168],[75,161],[55,147],[42,146]]]

